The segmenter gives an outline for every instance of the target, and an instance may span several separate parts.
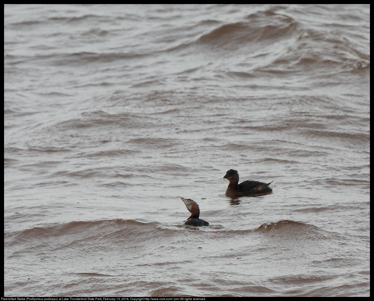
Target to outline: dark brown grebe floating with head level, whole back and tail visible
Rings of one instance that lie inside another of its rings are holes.
[[[226,197],[245,197],[252,194],[270,193],[273,190],[269,187],[270,183],[262,183],[257,181],[244,181],[239,183],[239,174],[236,170],[230,169],[223,177],[230,181],[226,189]]]

